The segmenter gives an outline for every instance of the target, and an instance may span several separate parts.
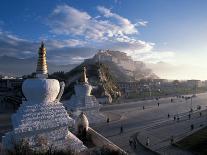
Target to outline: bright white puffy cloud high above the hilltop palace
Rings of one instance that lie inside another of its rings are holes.
[[[134,37],[139,33],[137,26],[146,26],[147,21],[134,24],[103,6],[98,6],[97,11],[100,14],[92,17],[71,6],[58,5],[50,14],[48,25],[53,34],[78,37],[89,47],[120,50],[131,55],[153,49],[154,43]]]

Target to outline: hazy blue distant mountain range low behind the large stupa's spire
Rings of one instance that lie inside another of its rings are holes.
[[[11,56],[0,56],[0,74],[8,76],[22,76],[35,72],[37,58],[19,59]],[[48,62],[49,73],[56,71],[68,72],[77,64],[56,65]]]

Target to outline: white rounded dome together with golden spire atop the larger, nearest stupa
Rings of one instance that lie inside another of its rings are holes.
[[[56,79],[47,79],[46,48],[42,42],[39,48],[36,78],[27,79],[22,85],[22,91],[27,101],[31,103],[50,103],[55,101],[60,91],[60,83]]]

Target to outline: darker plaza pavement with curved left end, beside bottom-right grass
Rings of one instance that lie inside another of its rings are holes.
[[[193,132],[198,131],[207,125],[206,115],[206,110],[202,111],[202,116],[200,116],[200,112],[193,113],[191,119],[183,115],[180,117],[179,121],[171,119],[154,127],[142,130],[137,133],[136,136],[143,146],[159,154],[191,155],[192,153],[171,145],[171,136],[173,136],[174,142],[177,142]],[[191,129],[192,124],[194,125],[193,130]],[[148,146],[146,145],[147,137],[149,137],[150,142]]]

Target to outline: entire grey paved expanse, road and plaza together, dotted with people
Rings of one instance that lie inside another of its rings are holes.
[[[175,139],[183,138],[190,134],[190,125],[193,123],[195,130],[206,125],[207,113],[203,110],[207,106],[207,93],[199,94],[193,98],[192,107],[195,110],[192,118],[189,120],[188,114],[191,109],[190,100],[182,98],[163,98],[159,100],[159,107],[156,100],[139,101],[132,103],[123,103],[120,105],[105,106],[101,109],[103,113],[110,112],[119,115],[120,119],[107,123],[100,123],[93,126],[95,130],[103,134],[119,147],[123,148],[129,154],[153,154],[153,151],[176,155],[179,152],[174,152],[175,148],[170,145],[170,136],[175,136]],[[199,115],[197,106],[201,106],[202,116]],[[143,110],[143,106],[145,109]],[[170,118],[167,115],[170,114]],[[179,116],[179,122],[173,120],[173,116]],[[123,126],[123,133],[120,134],[120,126]],[[129,145],[129,139],[139,133],[139,142],[136,148]],[[146,143],[146,137],[150,137],[151,147],[143,148]],[[155,145],[156,144],[156,145]],[[158,145],[160,144],[160,145]],[[180,151],[180,150],[179,150]],[[185,151],[182,154],[186,153]],[[189,154],[189,152],[187,152]]]

